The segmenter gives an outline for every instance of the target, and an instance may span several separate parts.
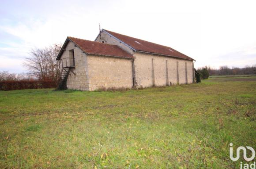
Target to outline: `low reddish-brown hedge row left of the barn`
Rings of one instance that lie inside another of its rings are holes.
[[[0,82],[0,90],[23,90],[41,88],[56,88],[56,82],[52,80],[21,80]]]

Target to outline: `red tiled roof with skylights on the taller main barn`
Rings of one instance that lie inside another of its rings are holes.
[[[112,36],[114,36],[117,39],[121,40],[122,42],[128,44],[130,47],[132,47],[133,49],[135,49],[137,51],[150,52],[150,53],[154,53],[154,54],[162,54],[162,55],[167,55],[167,56],[172,56],[172,57],[177,57],[177,58],[194,60],[194,59],[188,57],[187,55],[182,54],[181,52],[178,52],[177,50],[174,50],[171,47],[158,45],[156,43],[148,42],[145,40],[140,40],[140,39],[122,35],[122,34],[119,34],[116,32],[111,32],[111,31],[108,31],[105,29],[102,29],[102,30],[108,32]]]

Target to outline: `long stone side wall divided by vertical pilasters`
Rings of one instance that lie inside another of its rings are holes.
[[[151,87],[153,86],[153,73],[152,73],[152,59],[154,65],[154,85],[166,86],[166,60],[168,67],[168,85],[177,84],[177,61],[179,70],[179,84],[186,83],[185,63],[187,63],[187,77],[188,84],[192,83],[192,61],[183,60],[178,58],[164,57],[160,55],[146,54],[136,52],[135,57],[135,72],[136,82],[138,87]]]

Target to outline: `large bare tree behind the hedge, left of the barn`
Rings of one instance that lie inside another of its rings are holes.
[[[40,80],[57,81],[60,77],[60,64],[56,61],[56,57],[61,46],[61,44],[53,44],[43,49],[32,49],[30,57],[25,58],[24,66]]]

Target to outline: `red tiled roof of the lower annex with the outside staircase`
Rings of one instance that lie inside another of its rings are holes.
[[[81,50],[83,50],[87,54],[96,54],[96,55],[104,55],[104,56],[114,56],[121,58],[133,58],[133,56],[127,53],[125,50],[121,49],[117,45],[110,45],[106,43],[99,43],[90,40],[82,40],[74,37],[67,37],[67,40],[71,40],[74,42]],[[63,45],[63,48],[67,45],[67,40]],[[57,59],[61,57],[62,50],[58,55]]]

